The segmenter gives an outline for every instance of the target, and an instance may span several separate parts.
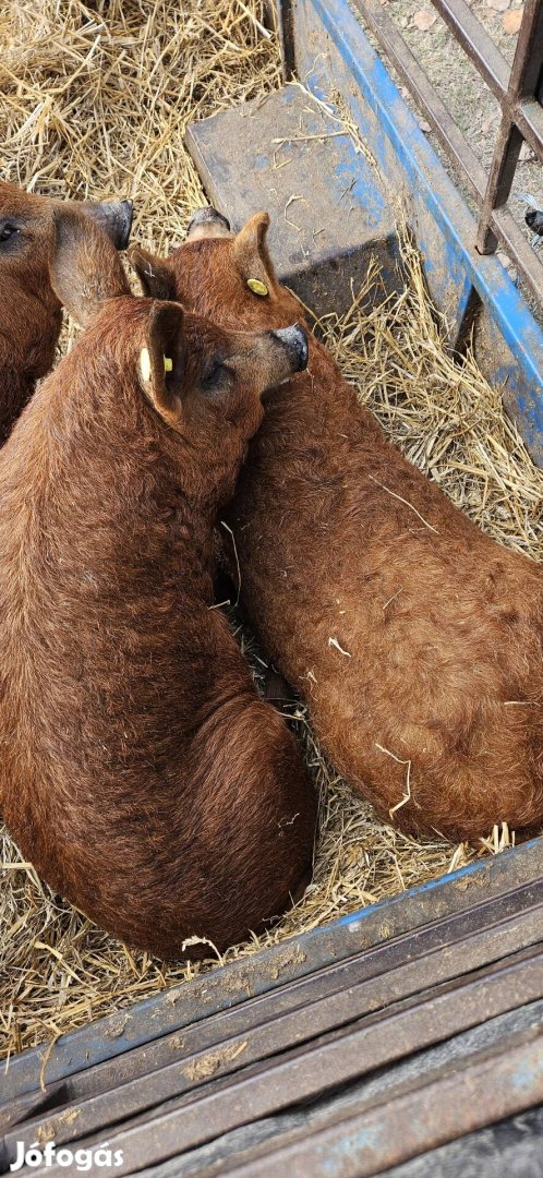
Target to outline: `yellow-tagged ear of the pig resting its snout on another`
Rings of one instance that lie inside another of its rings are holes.
[[[155,302],[139,355],[139,379],[146,397],[168,425],[178,425],[183,416],[179,391],[184,366],[183,307],[179,303]]]

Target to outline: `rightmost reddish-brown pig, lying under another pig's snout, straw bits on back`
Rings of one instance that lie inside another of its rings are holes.
[[[291,322],[267,223],[233,236],[198,214],[167,262],[135,256],[145,289],[224,327]],[[252,626],[357,792],[451,839],[541,823],[542,570],[386,441],[316,339],[273,395],[227,519]]]

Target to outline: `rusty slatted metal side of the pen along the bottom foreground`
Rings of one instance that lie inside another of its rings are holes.
[[[510,1154],[536,1178],[542,841],[25,1052],[0,1092],[0,1172],[21,1140],[107,1140],[118,1176],[494,1178]]]

